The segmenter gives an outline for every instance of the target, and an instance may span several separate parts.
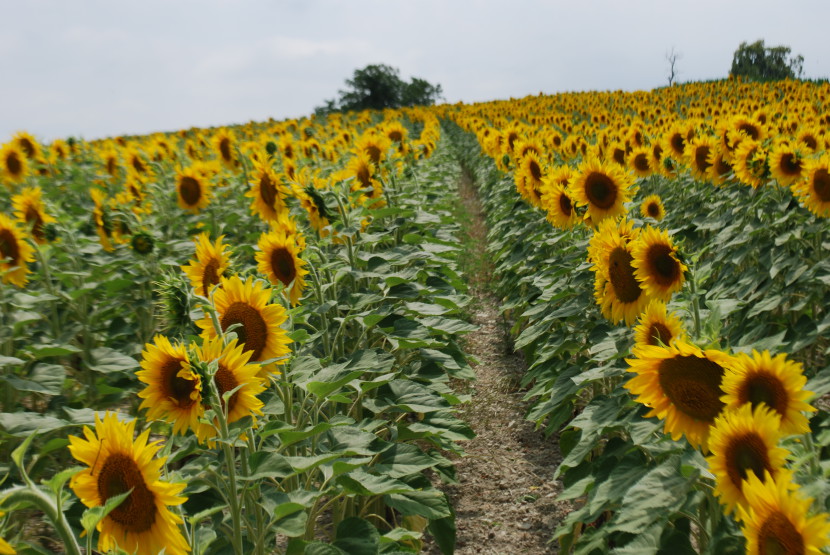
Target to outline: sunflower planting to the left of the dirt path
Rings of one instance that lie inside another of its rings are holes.
[[[0,553],[451,552],[440,137],[405,109],[3,145]]]

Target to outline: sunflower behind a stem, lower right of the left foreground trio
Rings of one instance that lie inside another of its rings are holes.
[[[243,350],[243,346],[234,339],[227,345],[222,344],[222,338],[206,339],[200,347],[195,347],[196,357],[202,362],[218,362],[218,369],[213,375],[213,383],[219,393],[222,408],[226,409],[228,424],[236,422],[246,416],[262,415],[262,401],[257,395],[265,390],[263,380],[257,376],[260,371],[258,364],[248,364],[251,351]],[[237,389],[239,388],[239,389]],[[229,391],[231,394],[225,406],[222,398]],[[200,422],[195,428],[196,437],[204,443],[216,437],[218,422],[213,425]]]

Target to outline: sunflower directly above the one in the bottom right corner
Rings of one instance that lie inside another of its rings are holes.
[[[789,451],[777,447],[781,433],[781,419],[765,406],[753,410],[743,405],[736,410],[724,410],[715,419],[709,435],[706,458],[709,470],[715,475],[715,495],[731,514],[738,505],[746,507],[743,494],[744,480],[752,473],[757,478],[776,478],[784,467]]]

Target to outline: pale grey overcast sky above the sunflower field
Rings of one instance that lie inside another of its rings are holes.
[[[308,115],[385,63],[448,102],[725,77],[741,41],[830,76],[824,0],[0,0],[0,143]]]

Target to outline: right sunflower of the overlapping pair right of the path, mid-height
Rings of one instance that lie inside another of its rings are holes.
[[[683,287],[687,268],[666,230],[646,227],[631,254],[634,275],[650,297],[668,302]]]

